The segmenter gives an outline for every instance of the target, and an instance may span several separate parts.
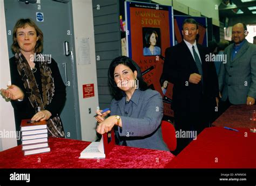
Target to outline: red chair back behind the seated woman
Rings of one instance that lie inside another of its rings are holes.
[[[161,122],[163,139],[170,151],[174,151],[177,147],[177,139],[174,126],[168,121]]]

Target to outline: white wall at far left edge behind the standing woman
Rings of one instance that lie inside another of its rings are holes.
[[[0,89],[6,88],[6,84],[11,80],[9,68],[9,55],[6,38],[6,26],[4,16],[4,0],[0,0]],[[0,95],[0,133],[6,134],[0,136],[0,151],[14,147],[17,145],[15,138],[5,138],[8,133],[14,133],[15,120],[14,110],[11,103],[6,102]],[[4,138],[2,138],[4,137]]]

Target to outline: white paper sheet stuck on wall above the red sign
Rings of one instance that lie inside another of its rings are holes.
[[[89,38],[77,38],[77,43],[78,43],[78,65],[91,64]]]

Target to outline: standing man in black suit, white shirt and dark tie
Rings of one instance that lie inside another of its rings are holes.
[[[179,135],[176,154],[208,127],[218,105],[218,78],[214,61],[206,61],[208,49],[196,42],[198,24],[189,18],[183,22],[184,40],[167,48],[163,75],[173,83],[174,126]]]

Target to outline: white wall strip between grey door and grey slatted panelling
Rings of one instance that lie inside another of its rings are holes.
[[[77,77],[78,77],[78,92],[79,92],[79,107],[82,140],[96,140],[96,107],[99,105],[97,74],[96,74],[96,56],[95,56],[95,39],[93,29],[93,14],[92,0],[75,0],[72,1],[73,24],[75,34],[76,62],[77,62]],[[89,65],[78,64],[78,40],[76,38],[89,38],[90,46],[90,63]],[[83,98],[83,84],[94,83],[95,97]],[[89,108],[92,113],[89,115]]]

